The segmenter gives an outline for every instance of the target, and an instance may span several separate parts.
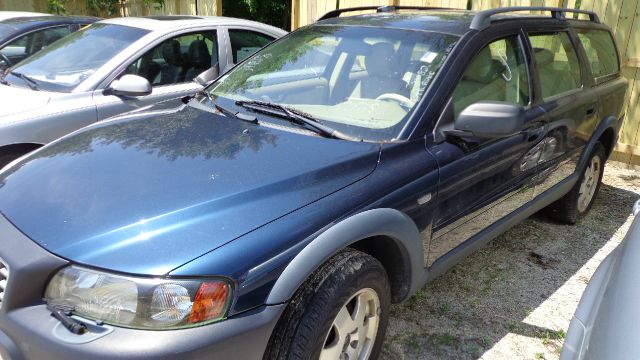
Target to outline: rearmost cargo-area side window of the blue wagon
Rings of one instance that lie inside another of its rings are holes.
[[[613,38],[608,31],[580,29],[578,38],[587,53],[594,78],[601,79],[620,71]]]

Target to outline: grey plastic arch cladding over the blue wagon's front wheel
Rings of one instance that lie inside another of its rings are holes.
[[[394,302],[404,300],[421,286],[424,264],[418,228],[403,212],[383,208],[353,215],[313,239],[284,269],[266,303],[288,301],[315,269],[346,247],[382,263],[389,275]]]

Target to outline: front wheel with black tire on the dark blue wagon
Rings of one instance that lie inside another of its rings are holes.
[[[271,335],[264,359],[353,360],[360,357],[354,356],[358,349],[364,359],[375,359],[389,320],[390,299],[389,280],[382,264],[370,255],[347,248],[314,271],[297,290]],[[361,314],[366,313],[365,320],[355,328],[359,331],[349,333],[349,325],[359,323],[357,308]],[[339,314],[347,321],[339,321]],[[376,321],[374,335],[371,329]],[[361,341],[360,337],[367,340]],[[341,357],[342,352],[351,356]]]

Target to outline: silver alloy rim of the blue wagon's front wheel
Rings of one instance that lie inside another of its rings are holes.
[[[338,311],[320,360],[365,360],[371,355],[380,322],[380,299],[373,289],[358,291]]]

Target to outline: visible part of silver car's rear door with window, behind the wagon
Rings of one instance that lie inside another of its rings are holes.
[[[252,29],[229,27],[225,30],[228,39],[225,41],[227,61],[221,65],[222,72],[226,72],[276,39],[272,35]]]

